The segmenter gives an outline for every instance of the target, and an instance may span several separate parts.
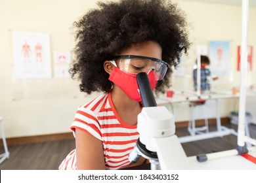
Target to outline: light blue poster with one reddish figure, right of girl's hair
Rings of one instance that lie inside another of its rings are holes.
[[[230,70],[230,42],[210,41],[209,59],[212,75],[228,75]]]

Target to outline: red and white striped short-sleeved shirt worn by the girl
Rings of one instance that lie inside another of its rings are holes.
[[[128,156],[139,138],[137,125],[125,124],[119,118],[111,92],[79,107],[71,129],[80,129],[102,141],[106,169],[129,165]],[[59,169],[77,169],[75,150],[66,156]]]

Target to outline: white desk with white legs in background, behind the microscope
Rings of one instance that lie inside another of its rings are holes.
[[[203,100],[215,100],[216,101],[216,119],[217,119],[217,131],[212,131],[209,133],[202,133],[196,135],[188,135],[185,137],[179,137],[179,141],[181,143],[184,142],[191,142],[191,141],[199,141],[202,139],[210,139],[214,137],[223,137],[225,135],[237,135],[234,129],[229,129],[221,125],[221,116],[220,116],[220,106],[219,101],[221,99],[234,99],[238,98],[239,94],[232,94],[232,92],[212,92],[212,93],[204,93],[200,97],[196,95],[194,92],[175,92],[173,97],[165,97],[161,96],[156,99],[158,105],[161,104],[173,104],[173,103],[184,103],[184,102],[191,102],[191,101],[199,101],[200,99]]]

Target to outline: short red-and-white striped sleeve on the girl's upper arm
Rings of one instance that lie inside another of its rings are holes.
[[[79,107],[77,112],[75,113],[75,119],[72,123],[70,129],[74,131],[75,136],[75,129],[80,129],[81,131],[85,131],[96,137],[102,141],[102,135],[100,131],[100,124],[96,117],[96,114],[85,107]]]

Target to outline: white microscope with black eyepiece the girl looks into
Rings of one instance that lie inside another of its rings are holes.
[[[158,107],[146,73],[137,74],[142,99],[137,129],[140,137],[129,161],[135,163],[140,156],[149,159],[152,170],[190,169],[190,163],[175,135],[175,118],[165,107]]]

